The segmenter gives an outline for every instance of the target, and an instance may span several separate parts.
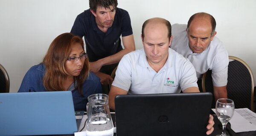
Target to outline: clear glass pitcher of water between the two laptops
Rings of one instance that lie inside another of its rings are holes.
[[[108,107],[108,95],[93,94],[87,103],[87,136],[113,136],[113,122]]]

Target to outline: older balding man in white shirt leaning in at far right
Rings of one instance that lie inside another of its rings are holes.
[[[213,94],[215,100],[227,98],[227,50],[215,37],[216,22],[212,15],[201,12],[189,18],[188,25],[172,25],[171,48],[186,57],[194,65],[201,86],[201,77],[212,70]]]

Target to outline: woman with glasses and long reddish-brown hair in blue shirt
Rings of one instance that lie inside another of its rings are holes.
[[[18,92],[72,91],[75,111],[86,111],[87,96],[102,93],[99,77],[89,72],[84,42],[70,33],[56,37],[44,59],[26,73]]]

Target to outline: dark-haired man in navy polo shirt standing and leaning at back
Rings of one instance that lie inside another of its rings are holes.
[[[108,90],[104,85],[112,83],[110,74],[123,55],[135,50],[130,16],[117,4],[117,0],[89,0],[90,8],[76,17],[71,29],[72,34],[84,37],[90,70],[104,90]]]

